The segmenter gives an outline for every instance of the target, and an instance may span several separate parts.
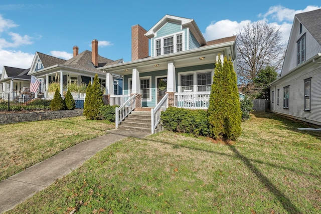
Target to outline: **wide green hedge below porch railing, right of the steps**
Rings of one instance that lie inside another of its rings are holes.
[[[195,136],[210,134],[207,112],[204,110],[169,107],[162,112],[161,120],[167,130],[192,133]]]

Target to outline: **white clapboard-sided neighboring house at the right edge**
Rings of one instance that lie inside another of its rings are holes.
[[[321,9],[296,14],[271,111],[321,125]]]

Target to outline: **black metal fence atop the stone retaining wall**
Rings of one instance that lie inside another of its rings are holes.
[[[84,98],[74,98],[76,109],[84,108]],[[34,111],[50,109],[51,99],[34,99],[30,96],[0,98],[0,111]]]

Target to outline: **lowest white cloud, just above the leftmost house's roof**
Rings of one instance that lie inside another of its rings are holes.
[[[3,66],[15,68],[30,68],[34,54],[24,53],[21,51],[0,50],[0,72]]]

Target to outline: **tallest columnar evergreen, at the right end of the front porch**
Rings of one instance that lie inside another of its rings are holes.
[[[213,138],[236,139],[241,134],[241,108],[233,64],[216,62],[208,109]]]

